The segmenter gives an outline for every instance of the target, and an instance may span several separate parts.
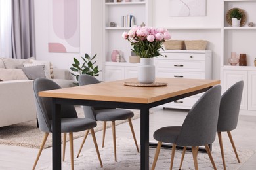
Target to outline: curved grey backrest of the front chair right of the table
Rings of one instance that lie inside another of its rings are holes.
[[[179,136],[179,146],[204,146],[215,141],[221,86],[214,86],[205,92],[186,116]]]

